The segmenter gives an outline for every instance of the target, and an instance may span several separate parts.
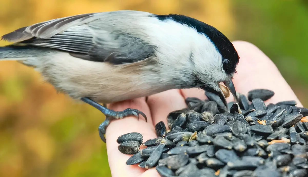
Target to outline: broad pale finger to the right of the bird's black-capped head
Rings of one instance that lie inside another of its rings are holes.
[[[247,96],[248,91],[266,88],[275,95],[265,103],[296,100],[302,106],[289,84],[282,77],[275,64],[259,48],[245,41],[234,41],[240,62],[233,82],[237,92]]]

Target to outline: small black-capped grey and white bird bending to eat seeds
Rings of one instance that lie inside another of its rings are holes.
[[[237,100],[232,78],[239,56],[219,30],[179,14],[118,10],[53,19],[1,37],[0,60],[33,67],[59,92],[106,115],[100,138],[112,119],[142,115],[114,103],[169,89],[201,88],[227,102],[223,82]]]

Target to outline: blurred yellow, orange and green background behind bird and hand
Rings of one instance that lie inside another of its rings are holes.
[[[231,40],[252,42],[308,106],[306,0],[0,0],[0,35],[76,14],[142,10],[197,18]],[[9,44],[0,41],[0,45]],[[270,77],[270,76],[269,76]],[[17,62],[0,63],[0,176],[108,177],[104,116],[75,103]]]

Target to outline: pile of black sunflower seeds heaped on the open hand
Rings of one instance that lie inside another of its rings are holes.
[[[163,177],[308,176],[308,109],[296,101],[265,106],[273,95],[255,89],[228,108],[210,92],[207,100],[187,98],[188,108],[168,115],[169,130],[161,121],[158,138],[122,135],[119,151],[133,154],[127,165],[156,167]]]

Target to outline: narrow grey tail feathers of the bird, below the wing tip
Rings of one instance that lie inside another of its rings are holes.
[[[46,54],[47,50],[35,46],[0,47],[0,60],[24,60]]]

